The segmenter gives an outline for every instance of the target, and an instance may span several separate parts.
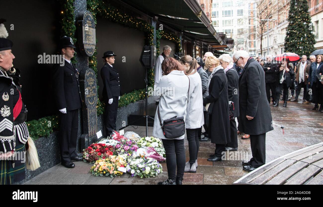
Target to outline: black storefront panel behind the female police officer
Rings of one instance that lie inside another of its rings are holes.
[[[103,83],[100,75],[103,67],[103,53],[111,50],[116,54],[113,67],[119,71],[121,92],[129,93],[145,87],[145,70],[139,62],[145,34],[140,30],[97,18],[96,36],[98,40],[98,81],[99,95],[102,97]],[[122,60],[125,58],[125,62]]]

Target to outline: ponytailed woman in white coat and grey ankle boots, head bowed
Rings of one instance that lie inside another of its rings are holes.
[[[191,96],[188,100],[185,121],[190,160],[185,164],[184,172],[196,173],[197,154],[200,146],[198,131],[204,124],[202,80],[199,73],[196,72],[197,61],[194,58],[190,55],[185,55],[180,59],[180,63],[183,64],[185,72],[191,80]]]

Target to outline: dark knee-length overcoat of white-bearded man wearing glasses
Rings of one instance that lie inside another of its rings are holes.
[[[238,130],[246,134],[258,135],[274,129],[263,71],[261,65],[255,59],[250,58],[239,78]],[[246,115],[254,118],[248,120]]]

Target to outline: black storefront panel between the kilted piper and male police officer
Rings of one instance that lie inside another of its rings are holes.
[[[52,64],[38,64],[38,55],[56,54],[59,40],[59,5],[55,0],[1,1],[0,19],[5,19],[8,39],[14,42],[14,67],[21,70],[22,98],[28,120],[56,113],[50,95]],[[11,24],[14,30],[10,30]]]

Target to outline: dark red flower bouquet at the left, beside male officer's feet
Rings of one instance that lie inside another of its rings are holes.
[[[84,162],[94,163],[97,160],[105,159],[109,155],[113,155],[113,147],[102,143],[93,143],[83,150]]]

